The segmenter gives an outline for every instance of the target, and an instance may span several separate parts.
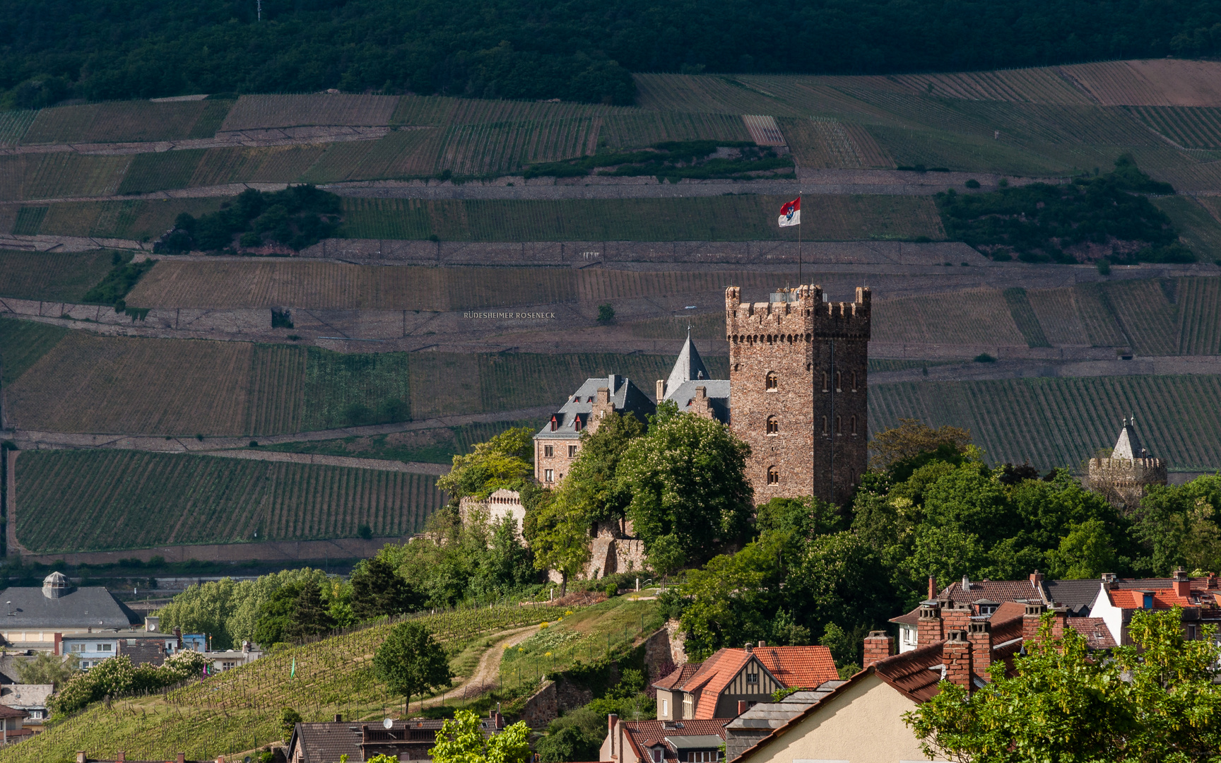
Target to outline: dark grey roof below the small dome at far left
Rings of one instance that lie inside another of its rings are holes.
[[[0,602],[12,602],[6,630],[22,629],[128,629],[144,619],[101,586],[76,588],[48,598],[43,588],[6,588]]]

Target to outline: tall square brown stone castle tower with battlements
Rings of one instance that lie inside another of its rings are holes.
[[[755,503],[817,496],[844,503],[868,452],[869,289],[823,302],[818,286],[742,303],[725,289],[731,429],[751,446]]]

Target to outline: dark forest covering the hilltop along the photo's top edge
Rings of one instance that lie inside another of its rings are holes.
[[[630,104],[630,72],[888,73],[1221,51],[1219,0],[0,0],[7,107],[188,93]]]

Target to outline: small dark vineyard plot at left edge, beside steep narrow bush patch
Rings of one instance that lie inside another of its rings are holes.
[[[81,302],[110,272],[111,253],[2,251],[0,297]]]

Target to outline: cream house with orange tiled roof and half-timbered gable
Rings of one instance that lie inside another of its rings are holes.
[[[823,646],[718,649],[702,663],[686,663],[653,684],[658,720],[733,718],[780,689],[816,689],[839,673]]]

